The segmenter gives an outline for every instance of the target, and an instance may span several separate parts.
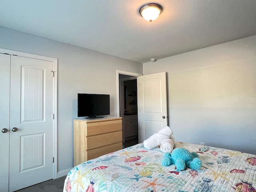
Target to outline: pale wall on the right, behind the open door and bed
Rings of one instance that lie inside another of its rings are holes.
[[[177,141],[256,154],[256,36],[143,64],[157,72]]]

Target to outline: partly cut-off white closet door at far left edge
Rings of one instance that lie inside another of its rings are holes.
[[[10,55],[0,54],[0,191],[8,191]],[[7,132],[5,132],[7,131]]]

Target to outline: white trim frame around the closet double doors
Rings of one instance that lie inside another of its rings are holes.
[[[45,61],[50,61],[53,62],[53,72],[54,72],[54,79],[53,79],[53,157],[54,157],[54,162],[53,162],[53,179],[57,178],[57,162],[58,162],[58,153],[57,153],[57,128],[58,128],[58,120],[57,120],[57,66],[58,66],[58,59],[57,58],[51,58],[51,57],[46,57],[46,56],[40,56],[40,55],[35,55],[35,54],[29,54],[29,53],[24,53],[24,52],[18,52],[18,51],[13,51],[13,50],[8,50],[8,49],[2,49],[0,48],[0,52],[4,54],[10,54],[10,55],[15,55],[15,56],[22,56],[22,57],[27,57],[27,58],[33,58],[33,59],[38,59],[38,60],[45,60]]]

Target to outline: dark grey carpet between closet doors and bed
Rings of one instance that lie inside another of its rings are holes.
[[[66,176],[51,179],[16,192],[63,192],[64,181]]]

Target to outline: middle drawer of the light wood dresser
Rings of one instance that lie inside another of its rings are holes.
[[[122,142],[122,131],[87,137],[87,150]],[[105,153],[106,154],[106,153]]]

